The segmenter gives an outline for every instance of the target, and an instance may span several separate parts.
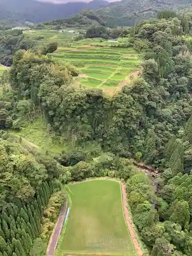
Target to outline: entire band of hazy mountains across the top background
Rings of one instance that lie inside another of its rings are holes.
[[[103,0],[93,0],[85,2],[69,2],[67,4],[42,3],[35,0],[1,0],[0,3],[0,24],[1,20],[9,19],[9,23],[15,22],[39,23],[46,20],[57,20],[71,17],[73,25],[76,22],[80,25],[90,23],[87,15],[81,15],[81,10],[97,10],[97,16],[108,27],[134,26],[141,19],[155,17],[157,12],[163,9],[178,11],[184,6],[191,4],[191,0],[122,0],[108,3]],[[80,17],[79,17],[80,16]],[[77,18],[80,19],[77,22]],[[69,20],[63,20],[69,25]]]

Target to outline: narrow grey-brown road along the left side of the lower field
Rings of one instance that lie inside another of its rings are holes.
[[[49,245],[48,245],[47,253],[46,253],[47,256],[54,255],[55,249],[59,242],[59,238],[60,238],[60,234],[61,234],[62,226],[63,226],[63,221],[65,220],[65,216],[66,216],[66,206],[67,206],[66,204],[63,205],[60,210],[59,218],[57,220],[57,223],[55,225],[55,228],[54,228],[51,238],[49,240]]]

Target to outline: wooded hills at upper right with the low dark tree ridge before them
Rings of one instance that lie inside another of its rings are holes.
[[[88,7],[90,9],[83,10],[75,16],[54,19],[51,24],[59,24],[64,27],[82,27],[83,25],[90,25],[94,21],[102,26],[105,24],[105,26],[111,28],[116,28],[118,26],[134,26],[135,23],[142,19],[156,17],[160,10],[167,9],[178,11],[186,6],[186,10],[183,12],[187,12],[189,4],[191,4],[191,0],[145,0],[137,2],[133,0],[122,0],[120,2],[117,1],[111,3],[96,11],[92,11],[90,9],[93,8]]]

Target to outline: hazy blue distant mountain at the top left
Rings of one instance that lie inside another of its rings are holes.
[[[83,9],[97,10],[108,5],[109,3],[104,0],[67,4],[53,4],[35,0],[0,0],[0,19],[8,18],[15,21],[25,20],[38,23],[73,16]]]

